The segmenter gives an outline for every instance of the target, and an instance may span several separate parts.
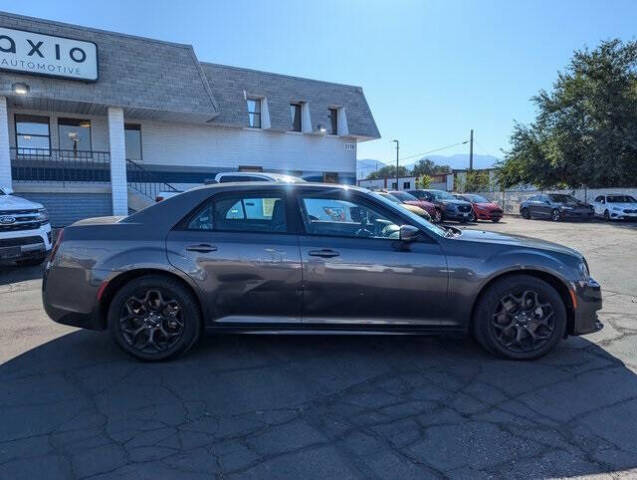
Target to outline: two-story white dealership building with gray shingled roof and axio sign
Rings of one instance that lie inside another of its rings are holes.
[[[360,87],[0,12],[0,185],[54,225],[124,215],[220,171],[354,183],[357,144],[375,138]]]

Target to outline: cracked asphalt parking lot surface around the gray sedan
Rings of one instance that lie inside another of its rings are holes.
[[[145,364],[0,270],[0,478],[637,478],[637,225],[507,217],[602,284],[604,330],[535,362],[470,339],[219,336]]]

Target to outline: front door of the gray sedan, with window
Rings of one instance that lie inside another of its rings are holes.
[[[409,223],[358,192],[299,189],[306,324],[439,325],[447,305],[447,262],[439,246],[403,243]]]

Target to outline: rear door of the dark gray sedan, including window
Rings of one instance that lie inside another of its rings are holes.
[[[300,322],[301,258],[283,189],[211,197],[167,237],[168,258],[225,323]]]

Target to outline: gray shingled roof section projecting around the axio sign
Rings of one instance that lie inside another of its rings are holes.
[[[55,102],[123,107],[137,118],[210,120],[218,106],[192,46],[105,32],[0,12],[0,26],[95,42],[99,80],[85,83],[28,74],[1,74],[2,87],[16,81],[31,87],[25,106]],[[9,87],[10,88],[10,87]],[[77,105],[79,107],[79,105]],[[98,112],[90,107],[87,112]]]

